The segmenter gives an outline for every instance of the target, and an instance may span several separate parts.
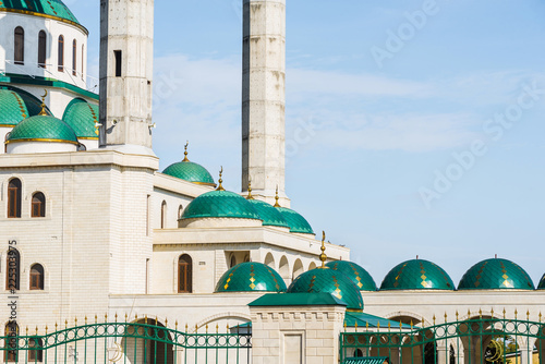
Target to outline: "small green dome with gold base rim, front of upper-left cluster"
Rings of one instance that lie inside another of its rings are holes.
[[[62,120],[48,116],[32,117],[13,128],[7,143],[60,142],[78,144],[74,131]]]

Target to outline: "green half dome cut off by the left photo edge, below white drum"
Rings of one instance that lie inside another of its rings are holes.
[[[0,86],[0,126],[15,126],[21,121],[37,116],[41,102],[33,95],[10,86]],[[48,110],[46,110],[48,114]]]

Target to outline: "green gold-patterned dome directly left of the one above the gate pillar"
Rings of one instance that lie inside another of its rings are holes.
[[[220,292],[284,292],[286,283],[275,269],[263,263],[246,262],[229,269],[216,284]]]

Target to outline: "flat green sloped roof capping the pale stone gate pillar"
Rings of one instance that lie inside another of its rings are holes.
[[[330,293],[269,293],[249,304],[250,307],[346,305]]]

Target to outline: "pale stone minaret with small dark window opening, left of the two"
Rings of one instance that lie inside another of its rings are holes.
[[[152,151],[154,0],[100,0],[100,147]]]

